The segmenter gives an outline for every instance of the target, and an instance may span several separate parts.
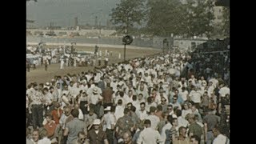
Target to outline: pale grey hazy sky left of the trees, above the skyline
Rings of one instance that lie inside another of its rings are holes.
[[[106,25],[110,20],[111,9],[120,0],[38,0],[26,2],[26,19],[34,20],[36,26],[74,26],[74,18],[78,17],[78,25],[94,25],[98,22]]]

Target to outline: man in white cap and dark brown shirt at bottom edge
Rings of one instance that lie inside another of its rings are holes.
[[[101,120],[95,119],[93,124],[94,128],[88,132],[89,142],[94,144],[109,144],[106,133],[100,129]]]

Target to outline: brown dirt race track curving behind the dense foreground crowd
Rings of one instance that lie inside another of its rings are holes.
[[[51,47],[51,46],[49,46]],[[86,47],[86,46],[75,46],[76,50],[86,50],[86,51],[94,51],[93,47]],[[100,47],[99,50],[102,50],[102,55],[105,54],[106,50],[109,50],[110,53],[112,52],[112,56],[110,55],[109,59],[109,64],[111,63],[116,63],[116,62],[122,62],[123,61],[123,47],[120,48],[105,48],[105,47]],[[149,49],[149,48],[141,48],[141,49],[129,49],[129,46],[126,46],[126,60],[130,58],[142,58],[146,57],[147,55],[151,54],[157,54],[161,52],[161,50],[157,49]],[[118,59],[118,54],[121,53],[122,58]],[[102,60],[102,65],[104,64]],[[98,62],[97,62],[98,65]],[[30,82],[38,82],[38,83],[45,83],[45,82],[50,82],[52,78],[54,78],[55,75],[65,75],[65,74],[80,74],[82,71],[87,71],[87,70],[93,70],[93,66],[87,66],[87,67],[82,67],[82,66],[69,66],[69,67],[64,67],[65,70],[60,70],[59,69],[60,64],[51,64],[48,66],[48,70],[44,70],[44,66],[38,66],[36,70],[30,70],[30,72],[26,72],[26,85],[28,85]]]

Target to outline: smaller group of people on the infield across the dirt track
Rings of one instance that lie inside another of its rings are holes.
[[[35,70],[38,66],[44,66],[44,69],[47,71],[51,63],[59,63],[60,70],[71,66],[107,65],[112,52],[106,50],[104,54],[102,50],[98,49],[99,47],[95,46],[94,54],[80,54],[72,46],[59,46],[52,49],[44,48],[42,45],[27,46],[26,54],[30,54],[33,57],[26,58],[26,71]],[[119,59],[120,57],[121,55],[119,55]]]

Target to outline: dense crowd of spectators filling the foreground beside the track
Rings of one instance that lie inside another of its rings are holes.
[[[216,56],[169,50],[30,83],[27,143],[229,143],[229,68]]]

